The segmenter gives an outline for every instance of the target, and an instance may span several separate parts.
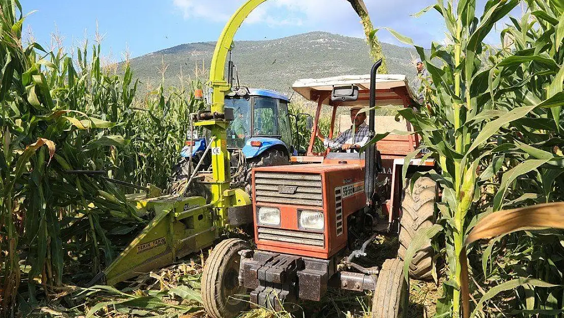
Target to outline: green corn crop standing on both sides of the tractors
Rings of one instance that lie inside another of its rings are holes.
[[[523,15],[502,25],[520,4]],[[201,262],[140,277],[143,288],[74,287],[111,263],[148,221],[127,204],[129,190],[106,178],[164,188],[188,115],[204,107],[191,94],[202,82],[180,80],[139,97],[129,63],[119,72],[106,67],[100,43],[73,54],[24,45],[19,1],[0,0],[0,7],[0,317],[54,303],[74,313],[80,307],[87,317],[203,317],[195,291]],[[407,258],[429,240],[437,251],[435,317],[562,316],[564,234],[552,229],[563,227],[562,205],[537,205],[564,201],[564,3],[491,0],[481,9],[475,0],[437,0],[416,14],[438,12],[446,25],[446,40],[430,43],[430,54],[387,29],[415,46],[430,78],[428,107],[386,110],[413,124],[438,163],[411,182],[431,177],[442,190],[437,223],[414,239]],[[377,31],[368,38],[376,55]],[[495,31],[500,45],[488,45]],[[290,112],[304,110],[297,104]],[[320,125],[325,134],[329,121]],[[302,119],[293,132],[302,146],[310,137],[305,126]],[[318,143],[314,151],[321,150]],[[517,210],[500,216],[508,209]],[[367,297],[332,294],[311,312],[367,316]],[[66,315],[49,308],[40,316]]]

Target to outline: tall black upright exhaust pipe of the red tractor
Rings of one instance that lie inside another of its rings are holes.
[[[368,112],[368,128],[370,130],[370,138],[374,138],[374,117],[376,115],[376,73],[378,68],[382,65],[382,59],[378,60],[372,66],[370,72],[370,108]],[[366,195],[366,205],[372,206],[372,196],[376,188],[376,143],[368,146],[364,155],[364,194]]]

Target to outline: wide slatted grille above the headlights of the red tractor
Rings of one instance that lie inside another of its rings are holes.
[[[323,206],[320,175],[256,172],[254,190],[257,202]]]

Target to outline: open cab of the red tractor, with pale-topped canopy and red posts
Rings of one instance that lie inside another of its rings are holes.
[[[342,154],[332,153],[331,149],[317,153],[314,151],[317,129],[319,127],[319,117],[325,108],[331,108],[332,117],[328,138],[336,138],[338,133],[350,128],[350,121],[347,121],[347,118],[338,117],[338,114],[343,108],[369,107],[370,75],[346,75],[325,79],[303,79],[294,82],[292,88],[308,101],[317,103],[314,128],[311,132],[307,154],[305,156],[293,156],[291,158],[292,162],[323,163],[329,154],[331,154],[331,160],[343,156]],[[405,75],[378,74],[376,76],[376,106],[393,105],[412,107],[417,104]],[[337,128],[337,124],[340,124],[340,130]],[[384,133],[386,129],[389,128],[390,124],[392,124],[393,128],[396,130],[405,130],[408,132],[413,130],[408,121],[398,123],[394,120],[393,116],[376,116],[374,130],[376,133]],[[377,149],[382,158],[384,173],[391,175],[394,159],[403,158],[415,150],[419,144],[420,138],[418,135],[389,135],[383,140],[378,141]]]

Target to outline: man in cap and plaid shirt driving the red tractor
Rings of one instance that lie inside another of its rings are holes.
[[[354,125],[352,125],[350,129],[345,130],[345,132],[343,132],[341,136],[337,137],[335,140],[323,136],[318,127],[316,129],[317,137],[323,141],[323,145],[333,150],[349,150],[351,148],[359,148],[366,145],[370,138],[370,130],[368,129],[368,125],[364,123],[366,120],[366,113],[363,112],[358,114],[361,109],[361,107],[351,108],[351,123]]]

